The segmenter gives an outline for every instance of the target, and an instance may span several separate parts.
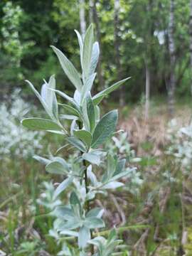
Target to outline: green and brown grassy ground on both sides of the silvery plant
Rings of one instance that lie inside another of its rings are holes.
[[[137,156],[142,157],[142,162],[137,166],[144,183],[139,194],[119,189],[115,194],[116,204],[104,201],[102,207],[105,208],[109,228],[117,225],[119,236],[132,255],[179,255],[180,249],[186,250],[186,255],[192,255],[192,248],[188,243],[191,239],[191,230],[188,228],[192,223],[191,203],[183,201],[183,206],[181,201],[181,195],[191,198],[191,181],[186,181],[180,166],[174,164],[171,156],[164,154],[168,143],[166,128],[169,119],[165,105],[161,100],[151,102],[150,119],[147,122],[143,118],[142,105],[125,107],[120,113],[119,128],[129,132],[132,149],[137,152]],[[178,102],[178,125],[188,124],[190,117],[191,106]],[[47,137],[45,145],[48,139]],[[58,142],[62,144],[57,136],[49,142],[52,150]],[[48,153],[47,146],[44,152]],[[38,249],[34,255],[43,250],[49,255],[57,255],[60,245],[56,245],[54,238],[48,235],[48,230],[53,226],[53,218],[44,215],[47,213],[46,209],[36,203],[41,193],[42,181],[56,182],[55,177],[46,174],[43,166],[33,159],[14,159],[10,156],[1,160],[0,164],[3,174],[0,177],[1,250],[10,255],[29,255],[35,242]],[[178,180],[174,186],[162,176],[167,170]],[[184,193],[183,182],[186,186]],[[129,186],[129,180],[127,184]],[[109,195],[110,198],[113,193]],[[98,206],[101,206],[101,202],[97,198]],[[125,218],[125,227],[121,227],[122,218]],[[188,240],[182,244],[185,230],[188,232]],[[25,244],[26,242],[29,243]],[[73,246],[73,242],[70,244]],[[28,252],[22,252],[23,245]]]

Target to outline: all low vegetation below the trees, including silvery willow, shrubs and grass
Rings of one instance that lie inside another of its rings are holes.
[[[190,114],[146,120],[141,103],[117,124],[100,102],[127,79],[91,95],[99,46],[76,33],[82,79],[53,47],[73,97],[53,75],[28,82],[46,114],[18,90],[1,104],[1,255],[192,255]]]

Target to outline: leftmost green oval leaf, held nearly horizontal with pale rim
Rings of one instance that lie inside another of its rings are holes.
[[[35,130],[61,130],[60,126],[50,119],[43,118],[25,118],[21,120],[21,124],[28,129]]]

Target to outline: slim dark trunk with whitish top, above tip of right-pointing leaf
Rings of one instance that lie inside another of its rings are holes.
[[[120,38],[119,38],[119,9],[120,1],[114,0],[114,50],[115,50],[115,62],[117,68],[117,80],[122,78],[122,67],[120,63]],[[124,87],[120,88],[119,105],[124,105]]]

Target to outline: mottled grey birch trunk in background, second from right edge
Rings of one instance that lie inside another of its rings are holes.
[[[175,89],[176,89],[176,78],[175,78],[175,43],[174,43],[174,0],[171,0],[170,5],[170,16],[169,16],[169,55],[170,55],[170,81],[168,88],[168,104],[169,114],[174,115],[175,105]]]

